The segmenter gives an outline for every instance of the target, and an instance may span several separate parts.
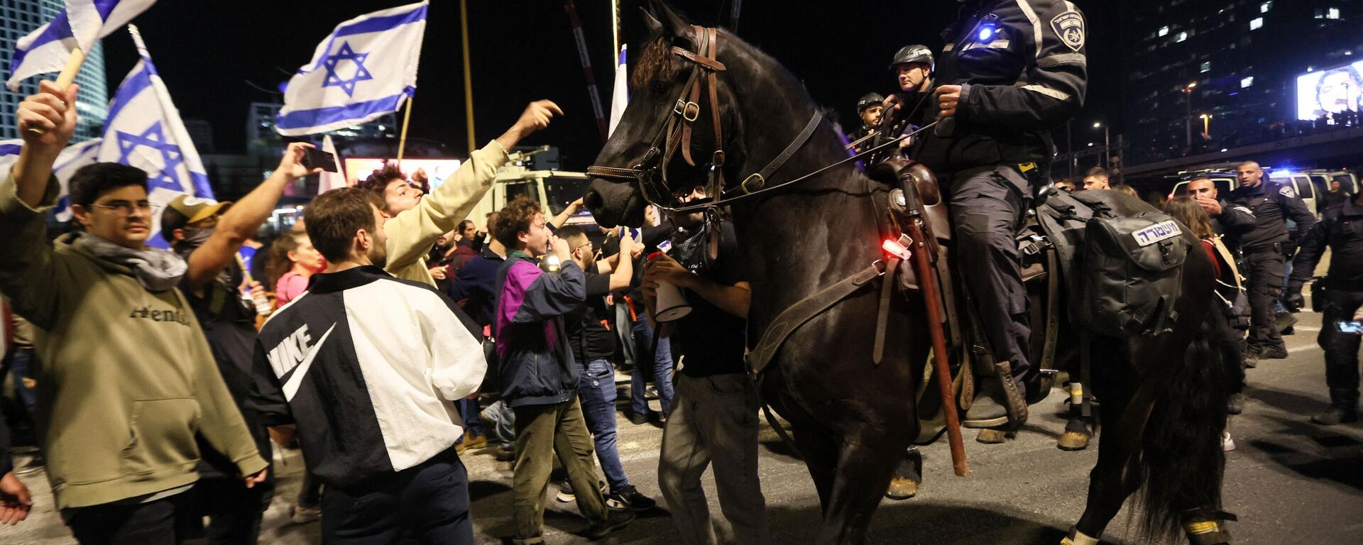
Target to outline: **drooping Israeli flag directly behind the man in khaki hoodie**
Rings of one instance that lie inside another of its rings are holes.
[[[170,93],[140,44],[139,53],[142,60],[123,79],[109,102],[98,161],[120,162],[147,172],[147,199],[151,200],[151,237],[147,244],[165,247],[159,236],[165,204],[181,193],[211,200],[213,188],[189,132],[180,121],[180,110],[170,102]]]

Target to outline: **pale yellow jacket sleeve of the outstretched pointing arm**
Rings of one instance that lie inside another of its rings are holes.
[[[427,252],[436,238],[468,218],[483,195],[492,188],[497,169],[506,162],[507,154],[502,146],[489,142],[470,154],[469,161],[459,165],[431,195],[421,198],[414,208],[388,219],[383,226],[388,237],[388,263],[384,267],[388,274],[433,285],[431,274],[424,270]]]

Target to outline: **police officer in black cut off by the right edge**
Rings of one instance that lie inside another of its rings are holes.
[[[1321,281],[1325,292],[1314,304],[1323,312],[1315,342],[1325,349],[1330,407],[1311,421],[1336,425],[1359,420],[1359,334],[1341,331],[1340,323],[1358,320],[1359,307],[1363,307],[1363,199],[1326,208],[1321,221],[1306,232],[1287,283],[1284,302],[1288,309],[1302,308],[1302,285],[1315,274],[1326,247],[1330,248],[1330,270]]]

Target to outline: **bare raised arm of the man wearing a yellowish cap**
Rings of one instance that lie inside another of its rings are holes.
[[[274,173],[222,213],[213,236],[194,253],[189,253],[187,260],[189,270],[185,271],[187,287],[195,292],[200,290],[203,285],[211,282],[232,264],[237,249],[255,234],[256,229],[260,229],[266,219],[270,219],[270,214],[274,213],[274,206],[279,202],[286,185],[304,176],[322,172],[322,169],[309,170],[303,166],[303,157],[309,147],[315,146],[303,142],[289,144]]]

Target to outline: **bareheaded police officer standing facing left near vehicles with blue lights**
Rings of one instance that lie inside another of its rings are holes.
[[[1242,272],[1250,279],[1250,337],[1244,342],[1244,365],[1253,368],[1259,360],[1287,358],[1287,345],[1274,317],[1274,302],[1283,293],[1283,268],[1292,251],[1287,219],[1296,222],[1298,240],[1303,240],[1315,223],[1315,214],[1291,185],[1268,183],[1257,162],[1246,161],[1235,170],[1240,187],[1225,200],[1232,207],[1249,208],[1255,218],[1253,229],[1229,237],[1244,259]]]

